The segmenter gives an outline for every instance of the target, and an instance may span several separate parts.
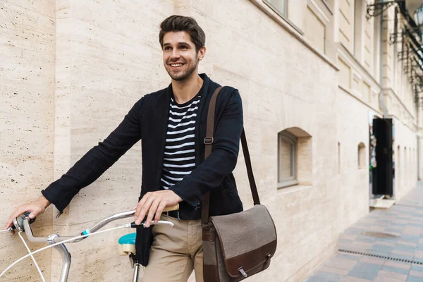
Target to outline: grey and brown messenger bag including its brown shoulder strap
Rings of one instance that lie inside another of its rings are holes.
[[[209,104],[204,159],[212,153],[214,112],[221,88],[214,91]],[[260,204],[244,128],[241,133],[241,145],[254,207],[235,214],[209,217],[210,192],[204,196],[202,200],[204,282],[244,280],[267,269],[271,257],[276,252],[276,227],[266,207]]]

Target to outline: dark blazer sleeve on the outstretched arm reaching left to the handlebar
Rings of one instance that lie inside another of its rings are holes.
[[[125,152],[141,139],[142,97],[118,127],[103,142],[87,152],[59,180],[42,190],[42,195],[62,213],[78,192],[97,180]]]

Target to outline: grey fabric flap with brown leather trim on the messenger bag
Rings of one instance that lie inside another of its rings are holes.
[[[274,256],[276,228],[262,204],[244,212],[212,216],[210,219],[219,236],[226,270],[230,276],[240,276],[240,267],[247,272]]]

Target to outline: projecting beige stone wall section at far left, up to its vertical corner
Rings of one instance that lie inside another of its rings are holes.
[[[53,180],[55,28],[54,1],[0,2],[0,229],[18,204],[38,197]],[[34,223],[34,233],[51,233],[51,222],[49,209]],[[18,235],[0,236],[3,271],[27,251]],[[35,258],[48,277],[51,252]],[[27,260],[4,281],[37,276]]]

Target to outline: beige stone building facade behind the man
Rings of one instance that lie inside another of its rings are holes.
[[[250,281],[302,281],[337,252],[338,234],[369,213],[374,116],[387,114],[394,123],[393,197],[399,200],[423,173],[417,144],[423,114],[404,71],[407,60],[398,60],[403,43],[389,42],[407,23],[396,5],[382,21],[367,18],[373,2],[0,1],[1,218],[6,222],[66,173],[140,97],[167,87],[159,23],[172,14],[192,16],[207,35],[200,72],[240,90],[259,195],[278,231],[271,267]],[[135,206],[140,146],[81,190],[64,214],[56,217],[49,207],[34,233],[77,235]],[[242,152],[235,178],[245,208],[252,207]],[[68,245],[69,281],[130,281],[128,258],[117,253],[118,238],[128,232]],[[17,235],[0,236],[3,271],[27,252]],[[58,281],[58,253],[35,258],[47,280]],[[5,279],[40,281],[30,259]]]

